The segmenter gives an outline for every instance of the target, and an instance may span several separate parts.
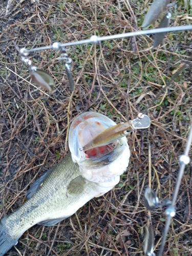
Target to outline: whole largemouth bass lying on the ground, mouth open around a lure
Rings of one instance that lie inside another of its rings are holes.
[[[1,256],[33,225],[55,225],[119,182],[130,158],[125,138],[115,148],[105,145],[96,149],[98,154],[86,152],[83,159],[78,151],[82,144],[114,124],[108,117],[94,112],[74,119],[69,132],[71,153],[33,183],[23,206],[1,220]]]

